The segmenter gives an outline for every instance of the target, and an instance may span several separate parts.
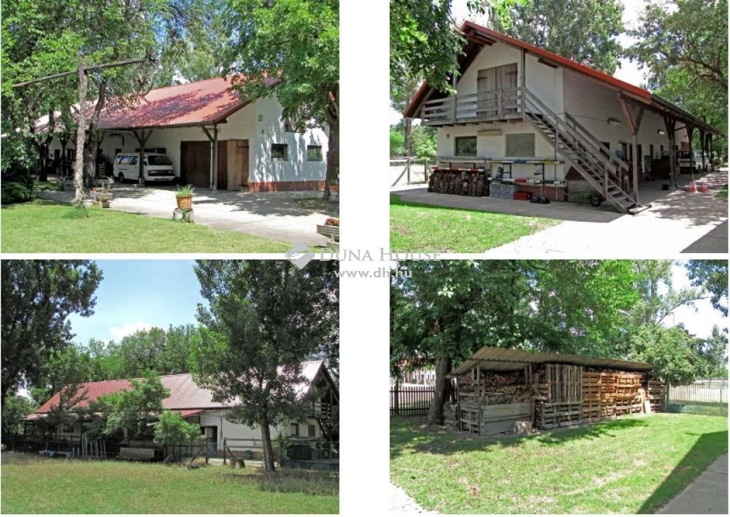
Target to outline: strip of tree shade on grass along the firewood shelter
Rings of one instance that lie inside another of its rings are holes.
[[[645,427],[644,418],[619,418],[575,428],[554,429],[539,434],[478,436],[455,431],[446,426],[427,426],[425,418],[391,418],[391,459],[403,451],[450,455],[472,451],[485,451],[497,447],[518,447],[526,441],[543,445],[560,445],[585,440],[588,445],[601,437],[615,437],[615,432],[633,427]],[[414,434],[418,436],[414,437]]]

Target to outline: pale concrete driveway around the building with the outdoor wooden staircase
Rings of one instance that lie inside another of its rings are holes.
[[[662,191],[661,181],[647,183],[639,193],[642,204],[651,204],[637,215],[621,215],[604,203],[598,209],[585,204],[553,202],[532,204],[503,199],[435,194],[426,188],[393,188],[409,202],[483,210],[563,221],[536,234],[486,250],[494,259],[658,258],[677,253],[728,252],[728,201],[717,196],[727,183],[727,169],[705,175],[710,193]],[[680,185],[688,183],[683,176]],[[550,188],[545,188],[550,196]]]

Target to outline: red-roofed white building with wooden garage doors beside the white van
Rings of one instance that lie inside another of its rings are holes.
[[[118,153],[163,153],[180,183],[214,190],[289,191],[323,188],[327,136],[282,117],[275,96],[242,98],[231,77],[155,88],[133,104],[110,99],[99,117],[100,163],[112,175]],[[274,88],[279,80],[269,80]],[[47,125],[47,116],[37,122]],[[55,138],[50,157],[72,164],[71,141]],[[134,178],[126,177],[127,180]]]

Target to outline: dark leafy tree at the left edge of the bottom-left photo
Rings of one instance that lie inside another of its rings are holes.
[[[93,314],[101,278],[91,261],[2,261],[3,405],[16,388],[37,383],[53,351],[69,345],[69,315]]]

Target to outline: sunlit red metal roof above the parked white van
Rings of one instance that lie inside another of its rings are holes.
[[[245,82],[240,80],[238,82]],[[279,83],[269,79],[273,88]],[[167,86],[150,91],[133,107],[103,110],[99,129],[142,129],[202,126],[218,123],[237,112],[252,99],[241,99],[231,90],[231,77],[215,77],[184,85]],[[110,102],[110,105],[114,105]]]

